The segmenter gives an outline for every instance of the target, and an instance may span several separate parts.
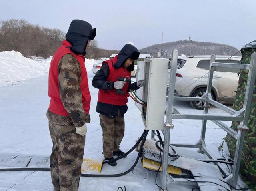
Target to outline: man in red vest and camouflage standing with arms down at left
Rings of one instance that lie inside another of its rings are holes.
[[[46,116],[53,143],[54,191],[78,191],[91,101],[84,56],[95,35],[90,23],[73,20],[50,64]]]

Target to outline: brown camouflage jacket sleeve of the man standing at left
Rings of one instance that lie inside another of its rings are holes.
[[[86,123],[86,113],[82,104],[81,68],[72,54],[65,54],[58,63],[60,99],[76,127]]]

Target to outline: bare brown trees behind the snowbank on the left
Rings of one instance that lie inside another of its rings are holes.
[[[62,40],[64,33],[57,29],[32,25],[23,19],[10,19],[0,22],[0,51],[15,50],[24,56],[52,56]],[[109,57],[117,50],[98,48],[97,40],[90,42],[86,58]]]

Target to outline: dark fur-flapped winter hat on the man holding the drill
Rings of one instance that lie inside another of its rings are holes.
[[[114,67],[120,68],[124,64],[124,62],[127,60],[127,58],[130,58],[132,60],[137,60],[139,56],[140,56],[140,52],[138,52],[138,49],[135,46],[131,44],[126,44],[119,52],[117,56],[118,60],[114,64]],[[134,70],[134,62],[132,62],[132,65],[128,66],[127,70],[128,71]]]

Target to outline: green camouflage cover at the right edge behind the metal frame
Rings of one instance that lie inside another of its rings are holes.
[[[250,64],[250,57],[253,52],[256,52],[253,48],[245,49],[242,52],[242,64]],[[239,111],[243,107],[247,78],[248,70],[242,70],[240,72],[238,89],[233,104],[233,109],[236,111]],[[240,125],[240,122],[232,122],[231,128],[238,131],[238,125]],[[254,83],[248,128],[249,132],[245,135],[244,139],[240,175],[247,181],[252,190],[256,190],[256,82]],[[225,139],[228,143],[230,155],[234,157],[236,139],[232,138],[230,135],[227,135]]]

